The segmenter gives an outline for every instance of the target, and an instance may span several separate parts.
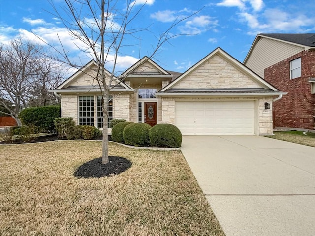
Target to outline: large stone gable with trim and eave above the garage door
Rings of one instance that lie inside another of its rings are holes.
[[[172,83],[161,89],[263,88],[277,91],[221,48],[215,49]]]

